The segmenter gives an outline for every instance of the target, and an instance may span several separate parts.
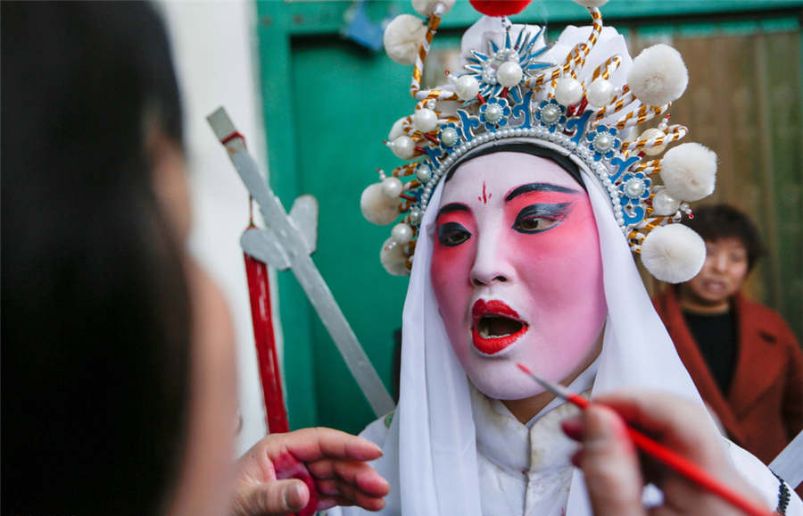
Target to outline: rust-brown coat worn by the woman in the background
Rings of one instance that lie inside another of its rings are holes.
[[[665,288],[653,304],[728,437],[771,462],[803,429],[803,353],[791,329],[778,313],[736,295],[739,350],[731,392],[723,395],[683,320],[675,288]]]

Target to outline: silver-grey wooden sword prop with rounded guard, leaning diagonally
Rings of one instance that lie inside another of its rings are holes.
[[[245,148],[243,137],[237,132],[224,108],[207,117],[215,136],[226,147],[228,157],[234,163],[245,187],[260,206],[269,229],[250,229],[240,239],[247,254],[268,263],[277,270],[293,270],[310,303],[315,307],[320,320],[343,355],[354,379],[377,416],[393,410],[393,399],[377,375],[377,370],[368,361],[357,336],[349,326],[335,297],[321,277],[310,254],[315,249],[317,237],[318,203],[314,197],[296,199],[290,215],[281,201],[262,177],[259,166]]]

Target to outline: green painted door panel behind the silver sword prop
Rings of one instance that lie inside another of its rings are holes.
[[[381,140],[389,121],[407,115],[411,99],[385,92],[403,91],[406,75],[382,54],[344,40],[310,39],[294,47],[299,184],[320,203],[314,259],[389,389],[407,279],[388,276],[379,263],[388,229],[363,219],[360,194],[378,180],[377,167],[393,167]],[[315,315],[310,339],[320,424],[361,429],[372,413]]]

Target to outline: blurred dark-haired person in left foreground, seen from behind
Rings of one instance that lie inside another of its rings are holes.
[[[4,2],[2,35],[3,512],[219,512],[231,329],[183,251],[161,20]]]

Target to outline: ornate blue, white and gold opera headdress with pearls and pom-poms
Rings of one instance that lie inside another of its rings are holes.
[[[362,193],[368,221],[393,226],[380,252],[391,274],[410,272],[418,225],[448,171],[488,146],[522,143],[565,155],[586,167],[608,192],[611,210],[631,250],[658,279],[691,279],[705,260],[699,235],[682,224],[688,202],[714,190],[716,154],[686,143],[688,129],[668,123],[633,131],[683,95],[688,74],[681,55],[666,45],[650,46],[631,61],[624,40],[603,31],[600,5],[587,7],[590,28],[569,28],[552,46],[543,29],[513,25],[506,17],[483,18],[463,37],[461,74],[442,87],[423,89],[426,54],[441,17],[454,0],[413,0],[427,21],[402,14],[385,29],[385,50],[412,64],[410,94],[415,111],[396,121],[386,145],[407,163]],[[527,1],[472,0],[492,16],[521,11]],[[637,136],[636,136],[637,135]],[[628,137],[629,136],[629,137]],[[656,179],[663,185],[658,185]]]

